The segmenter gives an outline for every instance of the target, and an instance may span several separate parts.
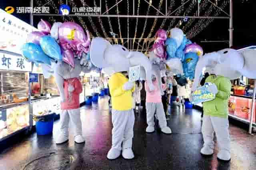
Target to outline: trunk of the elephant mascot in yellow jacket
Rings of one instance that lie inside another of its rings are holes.
[[[152,65],[150,60],[141,52],[132,52],[132,56],[129,58],[131,66],[141,65],[146,72],[146,80],[150,91],[154,90],[152,82]]]

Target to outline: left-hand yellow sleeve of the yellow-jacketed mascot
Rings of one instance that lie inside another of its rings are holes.
[[[119,82],[119,80],[116,75],[113,75],[108,80],[109,91],[110,91],[111,96],[120,96],[120,95],[124,94],[125,90],[123,90],[123,86],[120,86],[118,82]]]

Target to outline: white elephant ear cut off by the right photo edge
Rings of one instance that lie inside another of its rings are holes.
[[[240,73],[251,79],[256,79],[256,50],[246,49],[240,52],[244,56],[244,67]]]

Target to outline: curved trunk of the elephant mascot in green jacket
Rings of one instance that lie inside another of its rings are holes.
[[[208,53],[199,58],[198,63],[196,64],[195,79],[191,88],[192,92],[196,90],[200,83],[200,76],[203,68],[214,68],[216,64],[219,64],[220,62],[220,56],[217,52]]]

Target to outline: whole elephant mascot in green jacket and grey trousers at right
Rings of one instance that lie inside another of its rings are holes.
[[[192,92],[196,90],[202,69],[210,70],[210,76],[205,82],[213,83],[208,86],[208,91],[216,94],[214,100],[204,102],[204,117],[202,134],[204,146],[201,154],[212,155],[214,152],[213,134],[216,133],[218,140],[218,159],[229,161],[230,157],[230,134],[228,130],[228,99],[230,98],[231,83],[240,76],[256,78],[256,51],[247,49],[238,52],[234,49],[224,49],[202,56],[196,66],[195,80]]]

